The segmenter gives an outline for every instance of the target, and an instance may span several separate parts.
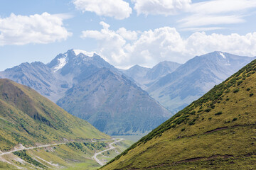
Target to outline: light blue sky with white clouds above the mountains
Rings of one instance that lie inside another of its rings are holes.
[[[115,67],[256,56],[255,0],[0,0],[0,71],[70,49]]]

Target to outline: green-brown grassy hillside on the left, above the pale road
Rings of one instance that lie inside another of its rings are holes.
[[[0,79],[0,150],[67,140],[110,138],[36,91]]]

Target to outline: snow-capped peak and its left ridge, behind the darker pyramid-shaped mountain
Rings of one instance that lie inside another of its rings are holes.
[[[82,72],[81,70],[86,69],[91,64],[115,70],[99,55],[94,53],[89,57],[84,53],[87,54],[82,50],[68,50],[57,55],[48,64],[42,62],[22,63],[0,72],[0,77],[30,86],[51,101],[56,102],[64,96],[65,91],[76,83],[73,80]]]

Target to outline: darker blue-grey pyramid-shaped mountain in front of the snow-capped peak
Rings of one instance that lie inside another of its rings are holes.
[[[117,72],[90,67],[57,102],[110,135],[142,135],[171,115],[146,91]]]

